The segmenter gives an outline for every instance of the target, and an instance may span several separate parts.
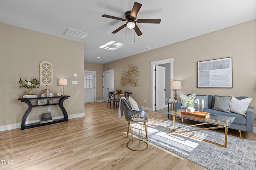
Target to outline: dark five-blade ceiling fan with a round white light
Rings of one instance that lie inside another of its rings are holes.
[[[123,29],[124,27],[127,26],[130,29],[134,29],[136,34],[138,36],[140,36],[140,35],[142,35],[142,32],[140,31],[140,29],[137,26],[136,22],[137,23],[160,23],[161,22],[161,19],[138,19],[138,20],[136,20],[137,14],[138,14],[141,6],[142,6],[142,4],[140,4],[138,2],[134,2],[132,10],[131,11],[127,11],[124,14],[125,19],[119,18],[119,17],[115,17],[115,16],[109,16],[109,15],[106,15],[106,14],[102,15],[102,17],[112,18],[112,19],[115,19],[115,20],[126,21],[126,24],[122,25],[121,27],[119,27],[118,29],[113,31],[112,33],[117,33],[118,31],[120,31],[121,29]]]

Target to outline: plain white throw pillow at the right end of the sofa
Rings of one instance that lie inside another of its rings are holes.
[[[238,100],[237,98],[235,98],[235,96],[233,95],[231,96],[232,96],[232,99],[231,99],[230,111],[246,116],[246,110],[248,109],[250,102],[252,102],[252,98],[245,98],[245,99]]]

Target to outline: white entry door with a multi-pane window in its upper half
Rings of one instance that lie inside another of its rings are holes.
[[[84,72],[84,103],[95,102],[95,73]]]

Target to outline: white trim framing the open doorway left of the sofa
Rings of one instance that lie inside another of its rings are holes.
[[[173,58],[164,59],[159,61],[152,61],[151,62],[151,109],[152,111],[156,110],[156,92],[155,92],[155,82],[156,82],[156,75],[155,75],[155,66],[160,64],[170,64],[170,81],[173,81]],[[166,87],[168,88],[168,87]],[[170,98],[173,98],[173,91],[170,90]]]

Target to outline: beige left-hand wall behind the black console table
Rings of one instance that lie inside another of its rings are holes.
[[[26,94],[19,88],[18,80],[39,79],[39,64],[50,61],[53,64],[53,86],[40,86],[33,89],[40,96],[46,88],[54,96],[62,92],[58,79],[67,78],[68,86],[64,93],[71,97],[64,101],[68,115],[84,113],[84,45],[77,41],[0,23],[0,127],[21,123],[27,104],[20,102]],[[77,77],[73,77],[77,73]],[[78,85],[72,85],[77,80]],[[37,101],[34,101],[37,102]],[[55,107],[56,106],[56,107]],[[62,115],[57,105],[52,106],[52,117]],[[33,107],[28,121],[38,120],[47,107]],[[1,129],[1,128],[0,128]]]

